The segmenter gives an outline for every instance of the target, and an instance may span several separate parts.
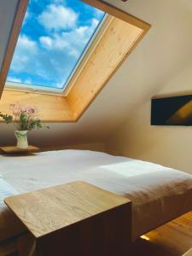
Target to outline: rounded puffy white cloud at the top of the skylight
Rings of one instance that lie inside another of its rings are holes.
[[[78,14],[62,5],[49,4],[38,16],[38,22],[46,29],[62,30],[76,26]]]

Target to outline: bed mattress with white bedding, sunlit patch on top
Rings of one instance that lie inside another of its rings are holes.
[[[26,156],[1,155],[0,174],[3,183],[0,191],[0,241],[24,229],[3,204],[3,198],[77,180],[131,199],[132,241],[192,207],[191,175],[141,160],[94,151],[60,150]],[[7,192],[3,193],[6,189]],[[15,228],[9,229],[13,223]]]

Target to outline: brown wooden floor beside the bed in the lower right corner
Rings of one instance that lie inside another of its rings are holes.
[[[189,212],[139,238],[129,256],[181,256],[191,247],[192,212]]]

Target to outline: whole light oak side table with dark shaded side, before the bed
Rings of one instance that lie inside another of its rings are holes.
[[[124,196],[74,182],[11,196],[5,203],[35,241],[30,255],[127,256],[131,201]]]

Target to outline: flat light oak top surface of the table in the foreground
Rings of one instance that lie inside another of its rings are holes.
[[[84,182],[14,195],[4,202],[36,238],[131,203],[125,196]]]

